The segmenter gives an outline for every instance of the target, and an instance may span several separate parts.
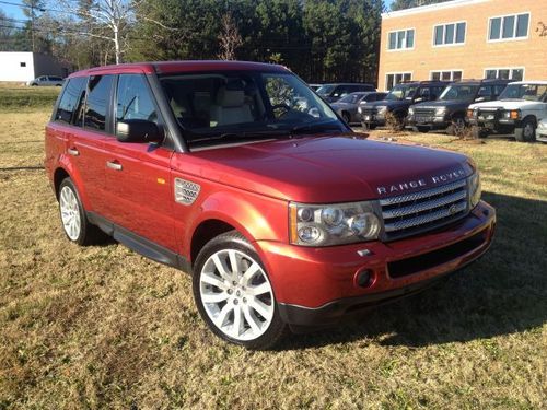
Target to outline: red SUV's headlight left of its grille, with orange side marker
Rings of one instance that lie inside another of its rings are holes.
[[[330,246],[376,239],[381,222],[374,202],[305,204],[291,202],[291,243]]]

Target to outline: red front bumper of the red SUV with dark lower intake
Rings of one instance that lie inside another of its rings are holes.
[[[494,209],[481,201],[452,225],[389,243],[327,248],[263,241],[256,245],[270,272],[282,319],[314,326],[428,288],[480,257],[490,246],[494,226]],[[368,255],[360,256],[363,249]],[[360,286],[358,276],[363,270],[372,279]]]

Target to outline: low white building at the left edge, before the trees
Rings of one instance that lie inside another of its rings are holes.
[[[38,52],[0,51],[0,81],[27,82],[39,75],[67,77],[70,66]]]

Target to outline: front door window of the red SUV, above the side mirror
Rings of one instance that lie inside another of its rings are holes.
[[[123,74],[118,80],[116,120],[146,119],[158,124],[152,95],[142,75]]]

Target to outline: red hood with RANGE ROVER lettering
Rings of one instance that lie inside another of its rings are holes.
[[[473,172],[467,157],[454,152],[348,137],[207,149],[175,155],[173,166],[247,191],[310,203],[397,196]]]

